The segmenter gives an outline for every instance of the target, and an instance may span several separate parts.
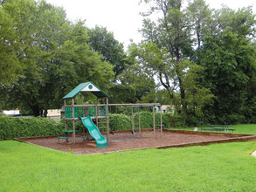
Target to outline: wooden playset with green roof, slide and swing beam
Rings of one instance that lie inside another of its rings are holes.
[[[75,98],[78,93],[93,93],[97,97],[97,104],[83,104],[76,105]],[[141,119],[140,112],[142,107],[150,107],[153,112],[153,133],[156,138],[156,107],[159,108],[160,111],[160,134],[163,134],[163,121],[162,121],[162,110],[161,105],[159,103],[140,103],[140,104],[109,104],[108,103],[109,96],[107,93],[104,93],[98,86],[94,85],[93,82],[82,83],[79,86],[75,87],[73,91],[66,94],[64,99],[64,108],[65,108],[65,136],[59,136],[58,139],[64,139],[68,143],[76,143],[77,137],[82,137],[83,141],[89,140],[93,138],[96,141],[97,147],[107,147],[107,142],[109,141],[109,107],[111,106],[129,106],[131,108],[131,133],[135,134],[135,121],[134,121],[134,112],[135,109],[138,108],[138,129],[139,134],[142,136],[141,130]],[[72,105],[66,105],[67,100],[72,99]],[[105,102],[102,104],[100,99],[105,99]],[[100,120],[106,120],[106,129],[107,129],[107,138],[100,134]],[[81,120],[84,129],[83,135],[77,134],[76,130],[76,121]],[[73,122],[73,130],[68,130],[67,121]],[[72,142],[68,139],[68,135],[73,134]]]

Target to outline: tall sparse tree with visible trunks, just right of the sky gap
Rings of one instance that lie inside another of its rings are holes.
[[[156,0],[144,3],[153,3],[144,16],[156,11],[162,16],[156,22],[149,18],[143,20],[142,34],[149,45],[142,46],[147,46],[148,51],[153,51],[146,54],[150,54],[151,57],[157,54],[158,59],[162,61],[161,65],[154,65],[157,67],[155,72],[158,73],[158,78],[170,93],[170,97],[174,96],[174,91],[179,87],[180,97],[184,101],[183,59],[190,56],[191,50],[190,21],[187,12],[182,10],[181,0]],[[185,108],[186,104],[183,103],[183,106]]]

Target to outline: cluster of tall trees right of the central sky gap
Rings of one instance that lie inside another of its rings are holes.
[[[142,13],[144,39],[129,57],[158,79],[176,112],[216,123],[245,120],[246,102],[254,100],[246,91],[255,77],[252,8],[211,10],[204,0],[141,3],[149,6]]]

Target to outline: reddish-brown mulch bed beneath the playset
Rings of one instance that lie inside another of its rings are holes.
[[[107,136],[103,134],[103,136]],[[231,136],[228,134],[183,134],[174,132],[163,132],[156,131],[156,138],[154,137],[153,131],[144,131],[142,135],[131,134],[130,132],[110,134],[107,147],[97,148],[96,141],[82,141],[82,138],[77,138],[79,143],[67,144],[65,140],[61,140],[58,143],[57,137],[52,138],[38,138],[38,139],[26,139],[28,143],[36,144],[38,146],[49,147],[52,149],[73,152],[73,154],[101,154],[114,151],[134,150],[142,148],[153,148],[153,147],[179,147],[183,144],[191,143],[204,143],[214,141],[225,141],[230,139]],[[72,141],[72,138],[70,138]],[[81,141],[81,142],[80,142]]]

